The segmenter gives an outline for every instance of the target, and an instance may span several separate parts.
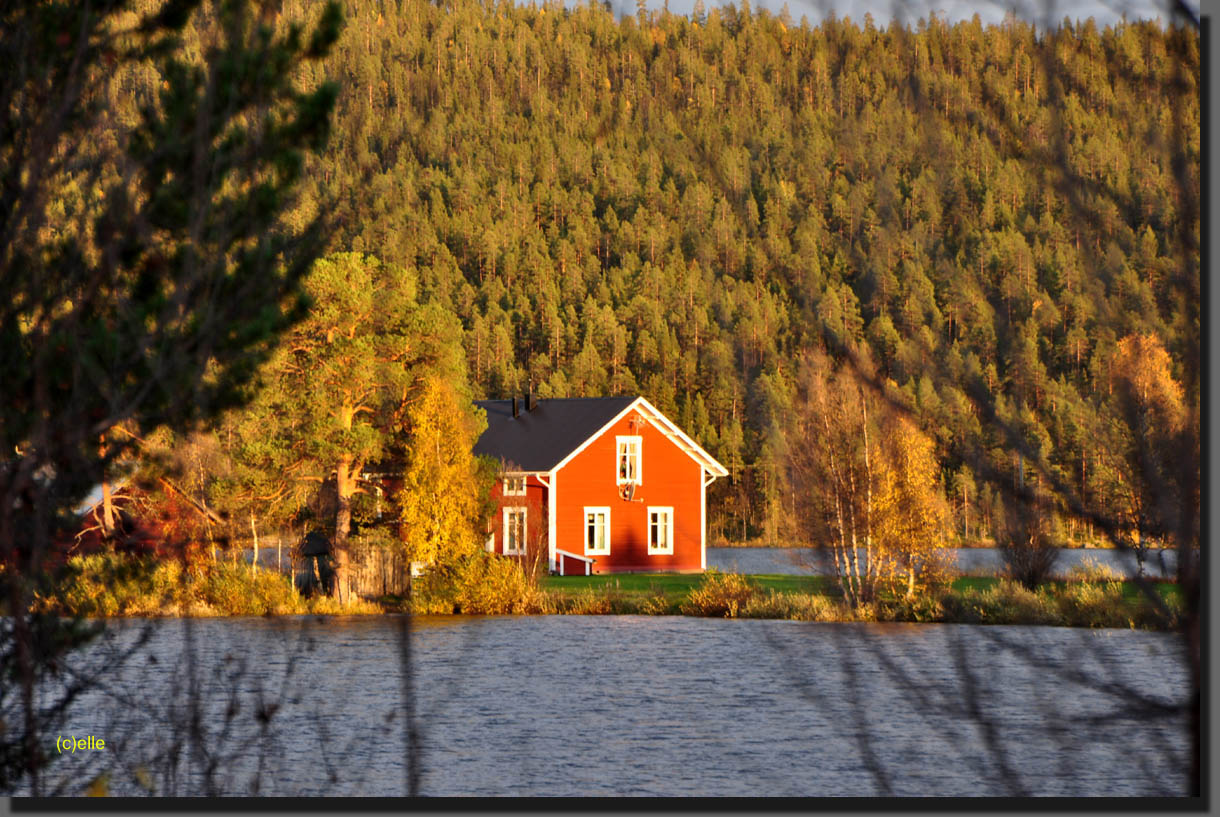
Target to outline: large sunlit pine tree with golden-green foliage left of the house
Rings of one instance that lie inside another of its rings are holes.
[[[255,400],[229,418],[239,432],[253,422],[261,437],[250,440],[239,433],[233,455],[239,462],[253,458],[276,467],[276,479],[321,485],[333,476],[336,510],[326,524],[334,532],[336,594],[346,601],[353,499],[365,488],[365,469],[401,461],[410,438],[415,448],[405,479],[416,495],[426,466],[445,468],[449,476],[461,468],[472,472],[473,406],[465,387],[460,327],[436,304],[417,302],[406,269],[359,252],[338,254],[315,263],[304,290],[312,302],[307,318],[284,335],[264,368]],[[451,424],[447,456],[425,461],[420,446],[439,446],[442,422]],[[464,458],[449,450],[461,445]],[[472,489],[473,482],[461,484]],[[477,500],[467,498],[466,505]],[[462,516],[451,521],[464,523]],[[433,534],[425,537],[427,543],[412,539],[412,548],[434,549],[440,533]],[[443,538],[454,537],[461,538]]]

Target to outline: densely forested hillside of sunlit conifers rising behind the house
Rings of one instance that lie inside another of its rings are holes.
[[[855,350],[959,534],[1017,469],[1139,524],[1115,383],[1199,396],[1196,32],[344,6],[299,215],[455,316],[472,396],[643,394],[732,472],[710,540],[778,541],[803,361]]]

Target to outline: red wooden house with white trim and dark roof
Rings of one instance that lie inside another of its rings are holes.
[[[561,576],[706,567],[708,485],[725,466],[643,398],[481,400],[475,454],[504,463],[487,540]]]

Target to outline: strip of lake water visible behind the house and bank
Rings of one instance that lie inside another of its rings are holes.
[[[1004,573],[1004,560],[996,548],[947,548],[944,552],[963,574]],[[1052,572],[1064,577],[1091,562],[1120,576],[1135,576],[1137,572],[1133,554],[1102,548],[1061,548]],[[1149,577],[1174,576],[1176,566],[1176,550],[1153,550],[1144,562],[1144,573]],[[709,548],[708,567],[737,573],[834,573],[830,551],[808,548]]]

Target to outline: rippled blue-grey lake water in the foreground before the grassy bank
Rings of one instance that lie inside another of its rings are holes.
[[[1143,718],[1119,693],[1166,706],[1183,697],[1169,634],[427,617],[412,624],[404,694],[401,624],[120,622],[78,669],[102,667],[140,634],[148,643],[104,669],[106,689],[79,700],[65,730],[101,737],[106,750],[59,758],[50,779],[74,790],[109,768],[112,793],[138,791],[131,780],[143,777],[171,795],[344,796],[403,794],[412,769],[414,790],[426,795],[1176,795],[1186,787],[1181,717]],[[271,702],[278,708],[260,722]],[[182,741],[193,721],[206,752]]]

